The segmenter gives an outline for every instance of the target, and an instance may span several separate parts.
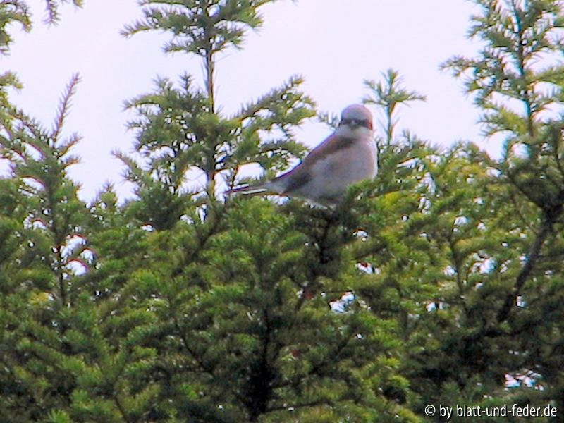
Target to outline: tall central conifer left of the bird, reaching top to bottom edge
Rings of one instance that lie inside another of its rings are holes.
[[[200,56],[205,69],[204,90],[189,76],[180,88],[162,79],[157,92],[128,102],[140,112],[131,126],[145,163],[118,154],[137,186],[128,207],[152,228],[147,260],[131,276],[142,295],[128,305],[141,312],[150,303],[156,319],[139,340],[158,357],[145,376],[159,386],[150,414],[329,422],[399,413],[416,421],[381,395],[380,384],[399,377],[393,319],[375,319],[364,305],[329,307],[365,276],[347,247],[361,242],[357,216],[300,202],[280,210],[262,199],[217,202],[216,183],[232,186],[247,163],[267,176],[286,168],[303,152],[292,128],[312,116],[295,77],[235,116],[217,112],[215,55],[259,25],[265,3],[146,1],[145,20],[125,30],[170,30],[166,50]],[[204,183],[190,191],[186,172],[195,168]]]

